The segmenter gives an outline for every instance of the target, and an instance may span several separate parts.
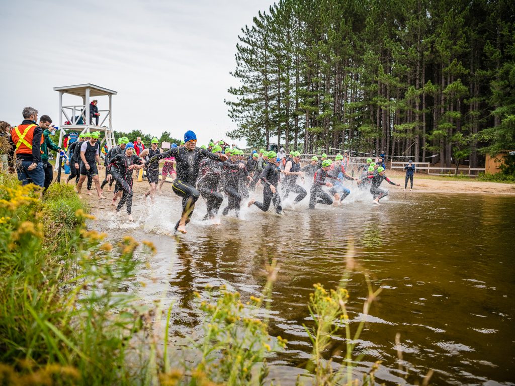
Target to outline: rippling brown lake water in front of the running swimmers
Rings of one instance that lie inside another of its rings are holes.
[[[151,239],[159,252],[139,278],[148,284],[135,290],[148,302],[173,302],[181,326],[173,334],[187,335],[196,325],[193,291],[225,284],[244,297],[258,294],[265,265],[277,258],[271,334],[289,344],[271,359],[271,374],[289,384],[310,356],[302,327],[309,323],[309,293],[314,283],[338,284],[352,238],[356,259],[383,288],[357,342],[357,352],[366,354],[357,371],[380,359],[380,382],[413,384],[434,369],[433,384],[513,384],[515,198],[397,193],[379,207],[357,201],[308,211],[302,205],[281,218],[245,209],[243,220],[227,218],[213,227],[199,220],[205,213],[200,200],[188,234],[180,237],[168,235],[178,200],[136,205],[134,213],[149,214],[147,234],[139,238]],[[358,322],[363,275],[353,273],[348,288],[351,319]],[[343,348],[336,341],[331,353]]]

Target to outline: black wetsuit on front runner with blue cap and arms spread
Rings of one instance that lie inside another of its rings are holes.
[[[187,150],[185,147],[177,147],[153,156],[148,163],[157,162],[163,158],[175,157],[177,162],[177,178],[171,185],[177,196],[182,197],[182,216],[186,215],[186,223],[190,222],[195,202],[200,197],[199,191],[195,188],[200,161],[204,157],[212,160],[219,160],[220,157],[210,153],[206,149],[196,147],[194,150]],[[176,229],[179,226],[177,222]]]

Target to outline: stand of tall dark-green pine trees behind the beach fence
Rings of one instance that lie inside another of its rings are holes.
[[[506,0],[281,0],[242,28],[226,100],[252,147],[477,167],[515,150]]]

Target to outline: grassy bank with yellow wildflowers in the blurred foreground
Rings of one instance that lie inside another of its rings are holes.
[[[53,184],[39,196],[35,187],[0,173],[0,384],[269,383],[267,358],[287,344],[270,336],[267,318],[257,316],[267,314],[275,264],[266,267],[260,297],[244,301],[224,287],[197,293],[202,334],[179,350],[168,343],[173,308],[142,305],[124,290],[140,265],[135,251],[152,253],[153,245],[131,237],[112,245],[105,234],[87,230],[91,216],[71,186]],[[356,267],[351,255],[348,267],[346,275]],[[377,295],[366,281],[365,315]],[[306,310],[313,347],[306,383],[352,381],[364,322],[349,322],[346,280],[341,283],[334,290],[315,285]],[[337,370],[329,360],[336,336],[348,342]],[[373,383],[377,365],[361,383]]]

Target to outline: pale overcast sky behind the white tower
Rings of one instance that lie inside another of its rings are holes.
[[[224,99],[238,85],[230,75],[238,34],[273,0],[2,3],[0,120],[20,124],[31,106],[59,124],[54,87],[92,83],[118,93],[115,131],[182,138],[193,130],[199,145],[246,145],[226,136],[236,125]],[[107,97],[97,99],[99,110],[108,108]]]

